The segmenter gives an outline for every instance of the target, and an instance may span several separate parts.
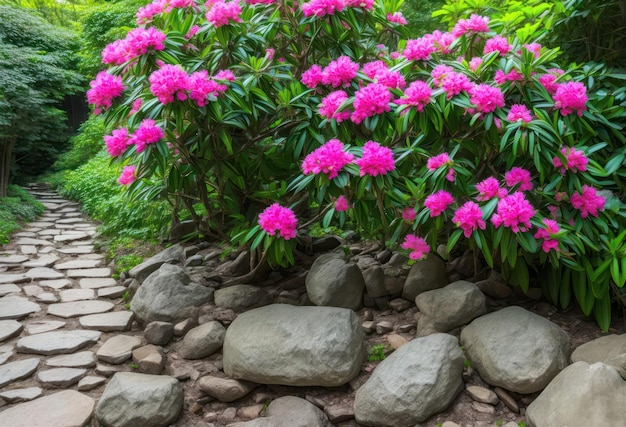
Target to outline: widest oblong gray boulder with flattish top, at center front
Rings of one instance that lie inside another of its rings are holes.
[[[334,387],[350,381],[365,356],[352,310],[273,304],[239,315],[226,330],[224,372],[259,384]]]

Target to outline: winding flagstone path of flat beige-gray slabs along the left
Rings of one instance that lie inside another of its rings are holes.
[[[0,248],[0,427],[84,425],[111,375],[104,361],[129,352],[102,344],[134,338],[133,313],[94,252],[97,224],[54,192],[31,193],[46,211]]]

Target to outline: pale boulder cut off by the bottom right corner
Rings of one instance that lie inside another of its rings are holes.
[[[565,368],[526,409],[530,426],[624,426],[626,381],[604,363]]]

